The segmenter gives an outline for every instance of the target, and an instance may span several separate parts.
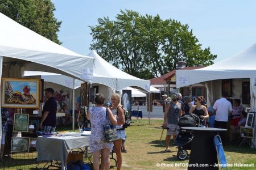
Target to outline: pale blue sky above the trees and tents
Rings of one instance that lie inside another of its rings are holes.
[[[52,0],[61,20],[59,40],[74,52],[87,55],[90,28],[98,18],[114,20],[120,10],[176,19],[188,24],[203,48],[217,54],[214,62],[241,52],[256,42],[256,1],[253,0]]]

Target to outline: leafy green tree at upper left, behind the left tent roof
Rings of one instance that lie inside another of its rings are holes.
[[[61,44],[57,32],[61,21],[57,21],[51,0],[0,0],[0,12],[39,33],[47,39]]]

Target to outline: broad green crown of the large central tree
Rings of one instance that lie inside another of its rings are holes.
[[[177,61],[187,66],[211,65],[217,56],[210,48],[201,49],[199,40],[188,24],[162,20],[159,15],[140,15],[126,10],[116,16],[99,18],[90,27],[93,43],[90,49],[126,73],[152,78],[176,69]]]

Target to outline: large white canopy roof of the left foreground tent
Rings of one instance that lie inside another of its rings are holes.
[[[2,75],[19,78],[22,70],[37,70],[90,82],[94,63],[92,57],[72,52],[1,13],[0,23],[0,78]],[[12,70],[14,66],[18,71]],[[0,134],[1,124],[2,121]]]

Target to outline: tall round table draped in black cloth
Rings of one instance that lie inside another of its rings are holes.
[[[213,139],[220,131],[226,129],[183,127],[181,129],[193,131],[188,169],[218,169],[218,158]]]

